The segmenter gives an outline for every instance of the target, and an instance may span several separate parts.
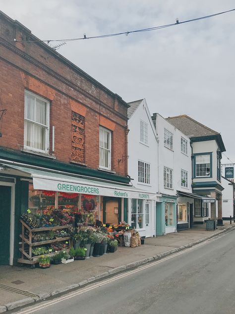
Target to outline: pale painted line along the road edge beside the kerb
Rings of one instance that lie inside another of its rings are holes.
[[[225,232],[223,235],[226,235],[228,232]],[[117,281],[119,279],[122,279],[124,277],[130,276],[130,275],[132,275],[134,273],[140,272],[140,271],[142,271],[144,269],[147,269],[149,267],[153,267],[153,266],[155,266],[157,264],[163,263],[163,262],[165,262],[165,261],[167,261],[169,259],[172,259],[172,258],[174,258],[174,257],[176,257],[178,255],[181,255],[181,254],[184,254],[184,253],[186,253],[188,251],[191,251],[191,250],[193,250],[193,249],[195,249],[195,248],[197,248],[197,247],[199,247],[201,245],[205,245],[209,241],[215,240],[218,236],[223,236],[223,235],[217,235],[217,236],[215,236],[215,237],[213,237],[211,239],[208,239],[208,240],[206,240],[206,241],[204,241],[202,243],[199,243],[199,244],[196,244],[196,245],[194,245],[192,247],[186,248],[185,250],[180,251],[180,252],[175,253],[175,254],[172,254],[170,256],[166,256],[166,257],[164,257],[164,258],[162,258],[160,260],[157,260],[155,262],[151,262],[151,263],[143,265],[143,266],[138,266],[138,268],[136,268],[134,270],[130,270],[130,271],[126,272],[126,273],[122,273],[122,274],[117,275],[115,277],[112,277],[110,279],[106,279],[104,281],[101,281],[101,282],[98,282],[98,283],[95,283],[95,284],[91,284],[91,285],[89,285],[87,287],[80,288],[79,290],[71,292],[71,293],[69,293],[69,294],[67,294],[65,296],[58,297],[58,298],[56,298],[56,299],[54,299],[52,301],[48,301],[48,302],[45,302],[45,303],[40,303],[38,306],[36,306],[34,308],[31,308],[31,309],[28,309],[28,310],[21,310],[21,311],[19,311],[17,313],[18,314],[32,314],[32,313],[37,312],[39,310],[48,308],[48,307],[50,307],[52,305],[55,305],[55,304],[57,304],[59,302],[62,302],[62,301],[65,301],[65,300],[69,300],[69,299],[74,298],[76,296],[79,296],[79,295],[81,295],[81,294],[83,294],[85,292],[89,292],[89,291],[94,290],[96,288],[102,287],[104,285],[110,284],[110,283],[112,283],[114,281]]]

